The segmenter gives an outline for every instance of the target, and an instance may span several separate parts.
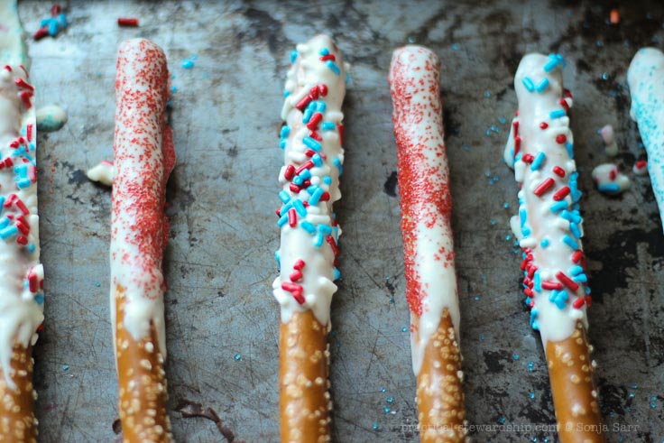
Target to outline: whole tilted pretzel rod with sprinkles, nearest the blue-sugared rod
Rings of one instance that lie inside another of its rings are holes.
[[[604,436],[586,338],[591,298],[564,67],[558,54],[521,60],[514,78],[519,111],[504,160],[521,184],[519,215],[511,224],[523,249],[530,325],[539,330],[546,352],[560,441],[595,442]]]

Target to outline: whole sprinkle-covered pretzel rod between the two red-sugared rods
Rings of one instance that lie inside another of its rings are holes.
[[[327,332],[341,234],[332,204],[341,198],[346,64],[326,35],[299,44],[291,63],[281,110],[280,275],[272,284],[281,305],[281,441],[328,441]]]

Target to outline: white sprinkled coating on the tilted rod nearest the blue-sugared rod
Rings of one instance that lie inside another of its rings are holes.
[[[511,225],[524,249],[530,323],[545,345],[571,337],[579,319],[587,328],[590,301],[578,213],[581,192],[566,112],[572,98],[567,91],[563,95],[563,66],[554,54],[523,57],[514,78],[519,113],[503,155],[522,185],[519,215]]]

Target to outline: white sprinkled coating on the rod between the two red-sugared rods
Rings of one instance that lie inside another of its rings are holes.
[[[332,205],[341,198],[339,176],[344,162],[341,145],[344,115],[341,105],[346,95],[346,63],[335,43],[326,35],[318,35],[307,43],[299,44],[297,56],[292,61],[281,110],[281,118],[286,125],[281,130],[285,164],[279,174],[283,206],[279,223],[281,247],[276,256],[280,263],[280,275],[272,283],[272,289],[281,305],[282,322],[287,323],[296,311],[311,309],[322,325],[329,325],[330,303],[337,291],[337,285],[333,282],[338,275],[335,250],[341,235]],[[325,94],[320,92],[320,85],[325,85]],[[316,88],[313,95],[312,88]],[[298,104],[303,99],[307,105],[299,109]],[[313,138],[311,133],[314,133]],[[304,181],[310,181],[309,187],[291,189],[294,181],[300,179],[287,179],[290,176],[289,166],[298,169],[307,162],[313,162],[314,156],[307,155],[312,151],[317,152],[315,160],[318,164],[302,170],[300,174],[304,175],[299,176]],[[306,179],[309,175],[310,178]],[[314,197],[321,192],[325,193],[327,200]],[[293,220],[293,226],[288,221],[290,216],[297,218]],[[295,268],[300,267],[297,265],[300,260],[305,263],[300,270],[301,276],[293,280],[291,276],[297,271]],[[284,289],[284,284],[295,289],[288,291]]]

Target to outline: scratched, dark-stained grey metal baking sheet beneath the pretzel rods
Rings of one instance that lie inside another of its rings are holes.
[[[69,111],[60,132],[39,134],[48,276],[45,329],[35,347],[42,441],[116,438],[110,195],[84,171],[111,156],[115,48],[136,36],[164,48],[178,88],[165,258],[173,433],[179,441],[223,440],[213,422],[181,417],[178,405],[189,400],[215,409],[239,440],[277,440],[276,134],[287,55],[321,31],[331,32],[353,64],[337,205],[344,280],[330,337],[336,439],[417,439],[385,79],[392,49],[411,38],[443,60],[468,420],[530,426],[475,429],[475,440],[555,440],[534,429],[554,416],[542,346],[521,303],[520,257],[505,239],[517,189],[500,160],[509,123],[499,118],[509,122],[516,106],[512,76],[521,55],[560,51],[576,96],[572,127],[595,295],[590,337],[608,438],[661,441],[664,235],[656,204],[647,177],[629,172],[632,189],[606,198],[592,189],[590,171],[608,161],[596,134],[607,123],[617,130],[623,170],[645,155],[628,117],[625,71],[638,47],[664,44],[664,6],[632,1],[621,7],[620,25],[611,26],[608,9],[572,4],[71,1],[69,30],[30,42],[38,103],[59,102]],[[21,2],[25,27],[34,31],[49,9]],[[139,17],[141,27],[119,29],[118,16]],[[182,69],[192,54],[195,68]]]

